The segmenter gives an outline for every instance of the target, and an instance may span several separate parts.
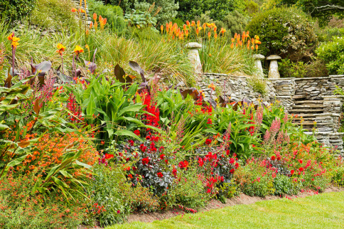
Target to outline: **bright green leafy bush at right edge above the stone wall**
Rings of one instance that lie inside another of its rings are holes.
[[[329,43],[323,43],[318,49],[319,59],[326,63],[330,74],[344,74],[344,37],[333,38]]]

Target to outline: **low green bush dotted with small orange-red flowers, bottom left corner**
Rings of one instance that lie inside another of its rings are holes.
[[[64,198],[61,192],[32,194],[34,173],[11,170],[0,178],[1,228],[76,228],[87,215],[83,197]]]

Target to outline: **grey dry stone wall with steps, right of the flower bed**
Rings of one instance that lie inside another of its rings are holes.
[[[206,97],[216,99],[211,95],[209,84],[221,88],[218,93],[228,95],[234,101],[241,101],[244,97],[257,104],[258,99],[273,103],[279,101],[286,112],[299,115],[295,119],[299,125],[309,130],[306,134],[313,134],[316,124],[316,138],[328,147],[334,147],[343,154],[344,133],[338,132],[343,119],[344,97],[334,95],[336,86],[344,88],[344,75],[330,75],[329,77],[312,78],[280,78],[266,80],[266,95],[261,95],[248,83],[244,76],[234,76],[216,73],[204,73],[198,80],[198,86]]]

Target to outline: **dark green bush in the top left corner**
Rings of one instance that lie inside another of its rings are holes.
[[[14,21],[27,16],[34,9],[36,0],[1,0],[0,16]]]

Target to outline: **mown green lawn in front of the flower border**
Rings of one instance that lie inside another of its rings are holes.
[[[228,206],[151,224],[134,222],[107,229],[114,228],[344,228],[344,192]]]

